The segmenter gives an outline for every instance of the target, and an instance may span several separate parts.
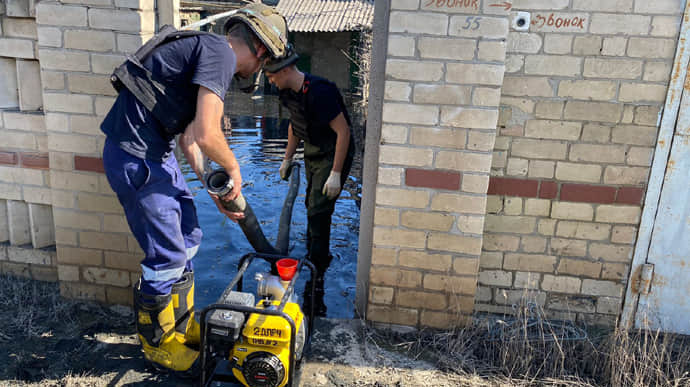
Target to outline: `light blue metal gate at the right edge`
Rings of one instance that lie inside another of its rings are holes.
[[[690,46],[686,5],[622,315],[690,334]]]

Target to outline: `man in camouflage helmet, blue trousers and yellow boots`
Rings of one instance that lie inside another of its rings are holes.
[[[175,135],[200,181],[204,155],[225,168],[234,187],[223,200],[235,199],[242,176],[221,129],[224,97],[233,76],[251,78],[267,59],[284,55],[287,42],[285,19],[263,4],[240,9],[225,27],[225,37],[182,31],[160,42],[162,33],[154,37],[150,54],[135,55],[113,73],[120,92],[101,124],[108,182],[145,254],[134,287],[137,333],[145,358],[174,371],[189,370],[199,356],[191,259],[202,236],[173,155]],[[161,108],[174,104],[179,108]],[[232,220],[243,217],[213,200]]]

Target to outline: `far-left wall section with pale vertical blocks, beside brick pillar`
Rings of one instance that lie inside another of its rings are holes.
[[[0,272],[55,281],[33,1],[0,4]]]

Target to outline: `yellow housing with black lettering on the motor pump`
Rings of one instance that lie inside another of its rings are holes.
[[[280,305],[271,301],[269,308]],[[265,309],[259,301],[257,309]],[[301,352],[304,341],[304,315],[294,302],[285,304],[283,311],[295,322],[296,352]],[[242,329],[242,337],[235,344],[232,357],[238,368],[233,368],[235,378],[248,387],[283,387],[287,384],[290,367],[290,324],[280,316],[252,313]],[[302,338],[302,343],[297,339]],[[298,348],[298,346],[300,348]],[[299,349],[299,351],[298,351]],[[296,354],[295,358],[298,356]]]

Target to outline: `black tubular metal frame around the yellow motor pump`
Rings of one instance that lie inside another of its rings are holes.
[[[237,312],[243,312],[243,313],[257,313],[257,314],[262,314],[262,315],[267,315],[267,316],[278,316],[282,317],[285,321],[290,324],[290,362],[288,364],[288,380],[287,383],[285,384],[286,387],[293,387],[293,382],[294,382],[294,375],[295,375],[295,368],[297,365],[297,360],[295,359],[295,340],[297,336],[297,328],[295,326],[295,322],[292,320],[292,317],[290,317],[287,313],[283,311],[285,308],[285,304],[287,301],[290,299],[290,297],[295,293],[295,283],[297,282],[297,278],[299,278],[300,271],[304,265],[309,268],[310,274],[313,277],[314,274],[316,273],[316,268],[315,266],[309,262],[307,259],[302,258],[293,258],[293,257],[288,257],[288,256],[282,256],[282,255],[273,255],[273,254],[261,254],[261,253],[249,253],[245,254],[241,259],[240,262],[238,263],[238,270],[237,274],[235,277],[232,279],[230,284],[228,285],[227,288],[225,288],[225,291],[223,292],[223,296],[221,296],[221,300],[224,299],[224,295],[226,292],[232,291],[233,288],[237,287],[237,291],[241,292],[242,291],[242,283],[243,283],[243,277],[244,273],[247,271],[247,268],[249,265],[254,261],[255,258],[262,258],[268,262],[271,263],[271,266],[273,267],[275,263],[279,259],[283,258],[291,258],[291,259],[296,259],[298,261],[297,264],[297,270],[295,272],[295,275],[292,277],[290,280],[290,283],[288,284],[287,289],[285,290],[285,293],[283,294],[283,297],[280,299],[280,304],[276,309],[259,309],[254,306],[244,306],[244,305],[228,305],[228,304],[220,304],[220,303],[215,303],[211,304],[204,309],[201,310],[200,313],[200,325],[201,325],[201,344],[199,347],[199,359],[200,359],[200,366],[201,366],[201,380],[200,380],[200,385],[201,386],[210,386],[211,382],[214,381],[213,377],[216,374],[215,366],[214,369],[212,370],[212,373],[209,375],[208,374],[208,346],[207,346],[207,327],[206,325],[208,324],[208,318],[210,317],[210,313],[212,313],[215,310],[228,310],[228,311],[237,311]],[[314,298],[315,295],[315,284],[312,283],[311,286],[311,297],[312,299]],[[305,289],[306,290],[306,289]],[[304,303],[303,303],[304,304]],[[304,311],[303,311],[304,312]],[[246,323],[246,322],[245,322]],[[311,304],[311,310],[309,311],[308,315],[308,328],[307,328],[307,334],[305,337],[305,342],[304,342],[304,347],[302,348],[302,353],[306,352],[307,347],[311,343],[311,334],[312,334],[312,329],[314,327],[314,304]],[[229,354],[228,354],[229,358]],[[232,363],[229,363],[232,365]]]

